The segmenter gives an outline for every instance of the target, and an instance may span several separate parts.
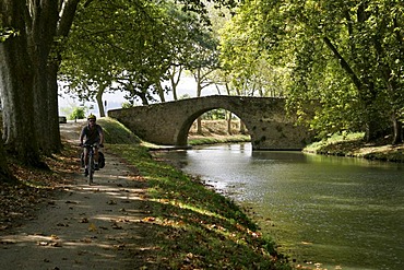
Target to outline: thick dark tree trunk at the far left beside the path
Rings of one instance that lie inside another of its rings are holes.
[[[40,166],[34,118],[34,71],[24,32],[0,43],[0,59],[7,149],[23,163]]]

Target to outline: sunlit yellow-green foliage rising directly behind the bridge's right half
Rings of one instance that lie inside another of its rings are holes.
[[[256,2],[242,5],[219,31],[221,77],[229,85],[229,94],[285,96],[290,71],[278,66],[275,51],[268,52],[273,40],[265,40],[268,35],[260,33],[262,21],[254,17],[258,9]],[[268,43],[264,48],[263,40]]]

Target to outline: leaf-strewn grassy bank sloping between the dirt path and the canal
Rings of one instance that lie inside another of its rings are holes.
[[[147,184],[144,200],[150,216],[143,222],[154,225],[158,268],[290,269],[271,238],[233,201],[153,160],[139,139],[112,120],[99,122],[106,129],[108,151],[134,165]],[[115,138],[128,140],[121,143]]]

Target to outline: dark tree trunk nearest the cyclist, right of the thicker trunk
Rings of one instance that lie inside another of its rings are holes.
[[[44,1],[33,7],[34,23],[27,24],[28,54],[32,59],[32,69],[34,70],[34,109],[35,109],[35,132],[37,134],[38,146],[41,153],[50,155],[55,149],[55,133],[59,131],[55,125],[58,119],[58,110],[55,107],[55,98],[50,91],[55,87],[50,83],[57,83],[56,74],[51,74],[50,64],[54,59],[49,58],[54,38],[56,36],[57,23],[59,20],[58,1]],[[56,71],[57,72],[57,71]],[[54,75],[54,77],[52,77]],[[57,87],[56,87],[57,91]],[[58,92],[56,92],[57,94]],[[55,115],[56,114],[56,115]],[[57,130],[55,130],[57,128]]]

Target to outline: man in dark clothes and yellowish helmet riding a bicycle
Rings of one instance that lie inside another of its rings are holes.
[[[95,144],[94,148],[94,162],[95,169],[98,167],[98,148],[104,148],[104,131],[103,128],[96,124],[97,118],[95,115],[91,114],[87,117],[87,125],[83,127],[80,133],[80,145],[91,145]],[[84,141],[85,139],[85,141]],[[84,141],[84,144],[83,144]],[[84,148],[84,175],[88,175],[88,149]]]

